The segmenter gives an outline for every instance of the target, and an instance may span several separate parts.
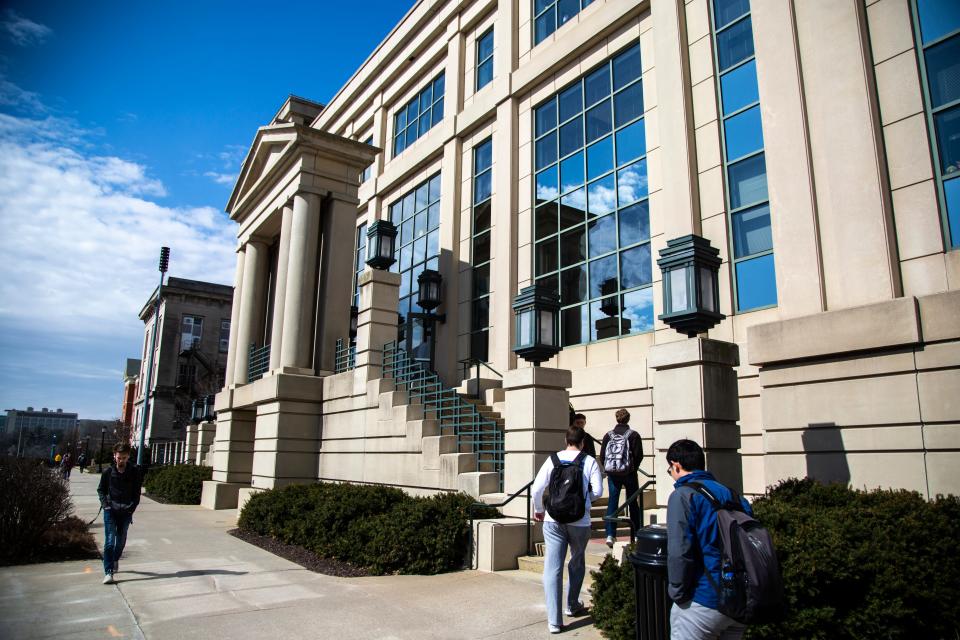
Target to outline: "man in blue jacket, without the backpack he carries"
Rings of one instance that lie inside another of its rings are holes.
[[[746,627],[717,611],[721,555],[717,515],[689,483],[699,482],[721,503],[733,494],[704,470],[703,449],[693,440],[670,445],[667,464],[674,481],[667,502],[667,591],[674,603],[671,640],[737,640]],[[749,503],[740,501],[753,515]]]

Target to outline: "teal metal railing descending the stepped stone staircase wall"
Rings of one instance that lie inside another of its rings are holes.
[[[463,399],[456,390],[444,386],[436,373],[415,361],[396,342],[383,346],[383,375],[392,378],[407,392],[411,402],[423,405],[428,415],[440,426],[440,435],[455,435],[457,451],[476,457],[477,471],[497,473],[499,490],[503,490],[503,427],[486,418],[475,405]]]

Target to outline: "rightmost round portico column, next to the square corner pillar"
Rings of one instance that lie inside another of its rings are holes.
[[[310,329],[317,290],[320,199],[312,193],[295,195],[290,222],[280,366],[290,373],[309,374],[312,373]],[[352,247],[353,243],[349,245]]]

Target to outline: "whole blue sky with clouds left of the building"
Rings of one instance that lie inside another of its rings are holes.
[[[0,2],[0,410],[118,417],[160,247],[232,284],[257,127],[328,102],[412,4]]]

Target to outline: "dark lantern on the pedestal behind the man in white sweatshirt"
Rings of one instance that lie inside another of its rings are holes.
[[[513,352],[534,366],[560,352],[560,296],[546,287],[525,287],[513,300]]]

